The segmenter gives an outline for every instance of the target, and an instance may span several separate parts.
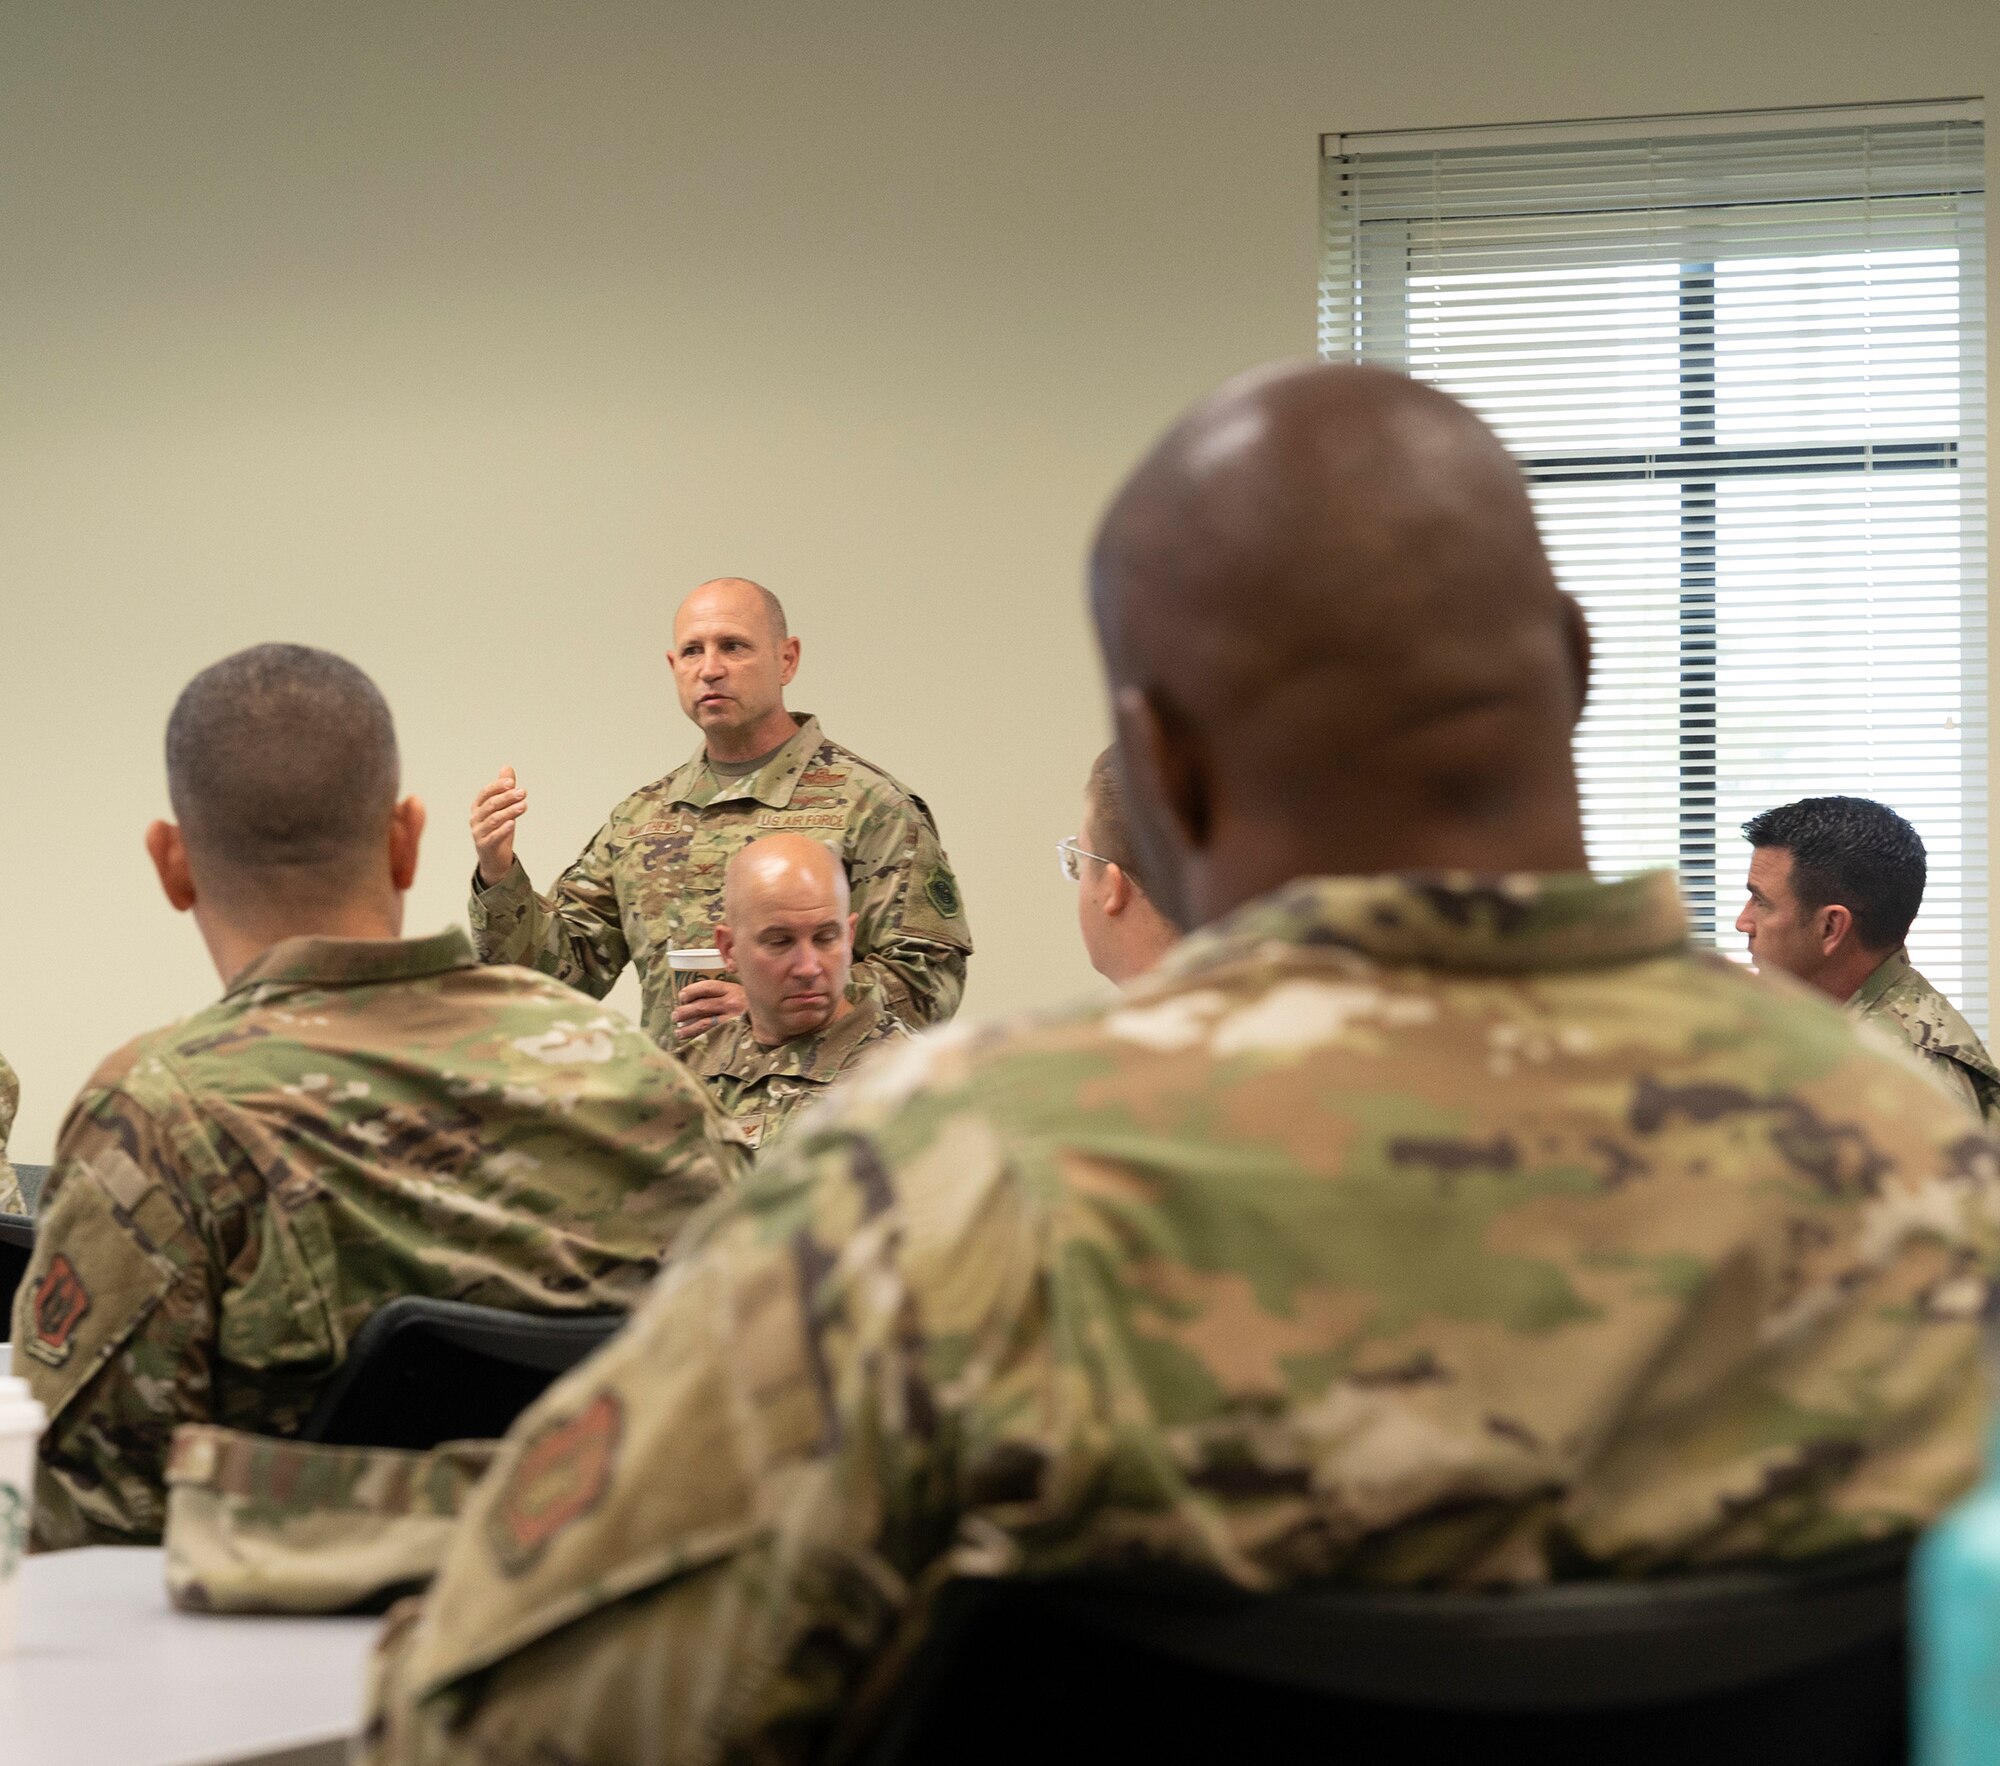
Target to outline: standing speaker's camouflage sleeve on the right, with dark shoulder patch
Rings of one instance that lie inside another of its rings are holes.
[[[966,992],[972,928],[952,862],[920,798],[880,796],[848,834],[848,886],[860,926],[854,978],[892,1016],[942,1024]]]

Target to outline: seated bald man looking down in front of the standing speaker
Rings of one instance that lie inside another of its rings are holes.
[[[848,996],[856,924],[848,874],[818,840],[768,834],[730,858],[716,948],[750,1004],[684,1058],[758,1150],[864,1054],[910,1034],[874,990]]]

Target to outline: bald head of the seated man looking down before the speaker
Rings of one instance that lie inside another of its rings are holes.
[[[850,1010],[846,868],[804,834],[752,840],[722,872],[716,944],[742,980],[758,1042],[776,1046],[824,1030]]]

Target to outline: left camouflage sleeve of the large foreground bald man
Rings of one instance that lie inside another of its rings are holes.
[[[388,1628],[358,1760],[820,1758],[952,1540],[934,1356],[958,1412],[1030,1306],[1018,1186],[968,1162],[958,1202],[904,1220],[880,1154],[824,1134],[704,1216]]]

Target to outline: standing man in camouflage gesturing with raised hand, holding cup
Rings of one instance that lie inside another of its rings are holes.
[[[904,1024],[950,1018],[972,932],[938,826],[920,796],[784,708],[798,638],[778,596],[736,576],[704,582],[674,614],[668,660],[702,746],[618,804],[546,896],[514,858],[528,808],[514,770],[474,800],[480,956],[598,998],[632,962],[646,1030],[662,1046],[700,1036],[744,1010],[742,984],[676,972],[668,952],[714,946],[734,852],[764,834],[810,834],[840,854],[854,890],[854,982]]]

